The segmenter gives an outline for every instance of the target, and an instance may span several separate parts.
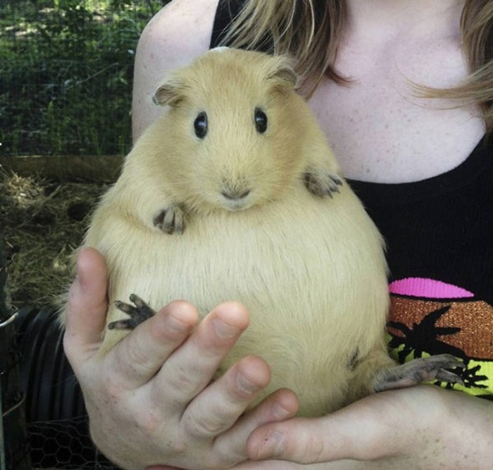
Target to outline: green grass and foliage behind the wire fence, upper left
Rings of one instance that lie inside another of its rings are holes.
[[[3,0],[0,156],[125,154],[133,61],[161,0]]]

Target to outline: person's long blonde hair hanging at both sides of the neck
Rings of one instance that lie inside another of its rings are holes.
[[[349,83],[335,69],[337,49],[347,21],[344,0],[246,0],[224,42],[246,49],[273,47],[295,59],[308,95],[323,78]],[[449,89],[420,86],[426,97],[479,104],[487,130],[493,130],[493,1],[466,0],[461,16],[464,54],[470,75]]]

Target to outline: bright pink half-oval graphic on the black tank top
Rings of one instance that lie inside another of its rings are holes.
[[[427,299],[465,299],[474,297],[473,292],[469,292],[462,287],[442,282],[441,280],[427,278],[404,278],[394,280],[390,283],[391,294],[411,295]]]

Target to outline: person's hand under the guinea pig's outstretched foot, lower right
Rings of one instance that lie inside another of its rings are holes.
[[[492,422],[493,405],[463,392],[429,385],[381,392],[323,418],[261,426],[249,456],[266,460],[237,469],[489,469]]]

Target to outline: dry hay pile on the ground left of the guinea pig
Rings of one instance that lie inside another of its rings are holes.
[[[56,183],[0,172],[0,223],[14,307],[53,304],[71,282],[71,254],[105,189],[96,183]]]

